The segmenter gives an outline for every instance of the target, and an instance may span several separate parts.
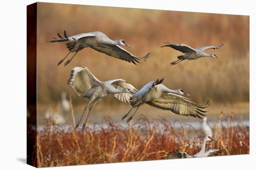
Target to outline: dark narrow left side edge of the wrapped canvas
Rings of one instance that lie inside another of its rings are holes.
[[[27,6],[27,164],[37,166],[37,3]]]

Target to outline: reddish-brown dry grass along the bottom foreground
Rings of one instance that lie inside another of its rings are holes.
[[[234,113],[220,114],[213,130],[217,142],[209,142],[207,148],[222,148],[221,155],[249,153],[249,127],[242,122],[234,124],[234,120]],[[103,127],[103,124],[107,126]],[[132,126],[125,127],[106,117],[81,132],[74,131],[73,125],[69,125],[67,131],[46,121],[43,129],[37,132],[37,166],[157,160],[165,159],[168,152],[175,150],[195,154],[201,149],[201,132],[181,124],[181,128],[175,129],[167,120],[142,117]]]

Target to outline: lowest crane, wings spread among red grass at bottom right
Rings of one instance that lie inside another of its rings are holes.
[[[211,139],[209,136],[206,136],[203,138],[201,150],[195,155],[190,156],[187,152],[175,151],[175,152],[169,153],[167,155],[167,159],[189,158],[189,157],[209,157],[212,155],[219,155],[223,151],[223,149],[210,149],[205,151],[205,144],[207,141],[215,141],[215,140]]]

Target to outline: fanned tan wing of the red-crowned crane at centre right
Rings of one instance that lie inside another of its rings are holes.
[[[147,104],[163,110],[170,110],[182,116],[193,116],[202,119],[201,116],[205,116],[204,113],[207,112],[202,109],[209,106],[209,101],[205,105],[198,105],[181,95],[165,93],[158,99],[148,101]]]

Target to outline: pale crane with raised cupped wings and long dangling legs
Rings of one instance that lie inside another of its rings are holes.
[[[106,97],[108,94],[114,94],[118,100],[129,103],[129,98],[138,91],[131,83],[122,79],[101,82],[89,71],[87,67],[75,67],[72,69],[67,84],[71,85],[78,97],[86,97],[90,99],[74,129],[79,126],[85,111],[89,105],[92,104],[89,107],[82,130],[86,126],[90,111],[95,104],[101,101],[102,98]]]

